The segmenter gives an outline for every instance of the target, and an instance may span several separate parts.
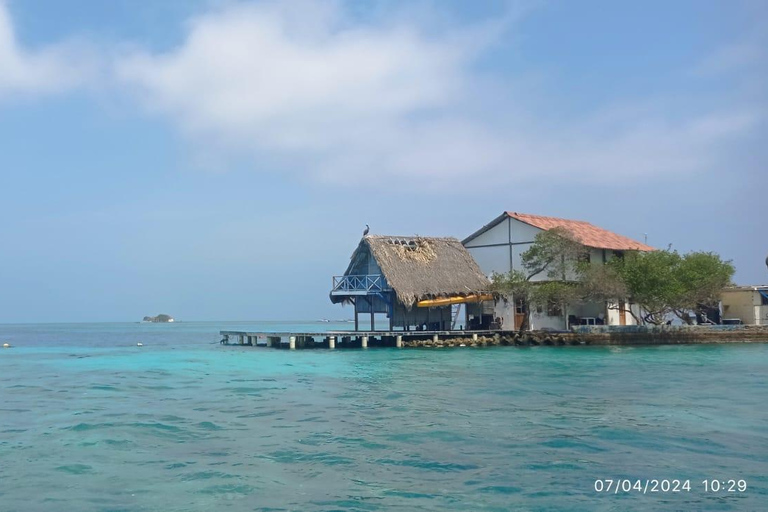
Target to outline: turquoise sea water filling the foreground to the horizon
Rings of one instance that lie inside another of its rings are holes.
[[[216,335],[328,326],[0,325],[0,510],[768,509],[768,345],[289,352]],[[692,489],[598,495],[598,478]]]

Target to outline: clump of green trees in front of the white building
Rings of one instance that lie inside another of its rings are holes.
[[[716,306],[720,292],[735,272],[730,261],[712,252],[626,251],[605,265],[583,257],[587,249],[564,229],[543,231],[522,254],[522,268],[493,276],[502,296],[522,301],[524,321],[530,325],[531,306],[549,307],[582,302],[606,302],[618,309],[629,299],[640,306],[638,315],[626,309],[638,324],[659,325],[671,315],[691,323],[691,314]]]

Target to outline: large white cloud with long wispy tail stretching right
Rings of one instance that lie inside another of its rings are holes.
[[[660,109],[632,109],[552,125],[511,88],[476,101],[485,90],[473,64],[499,26],[428,35],[402,17],[356,22],[339,3],[235,4],[193,20],[173,51],[126,56],[117,74],[201,154],[269,155],[345,183],[690,173],[756,122],[733,112],[672,122]]]

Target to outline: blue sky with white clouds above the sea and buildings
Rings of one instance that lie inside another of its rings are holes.
[[[503,211],[768,283],[768,3],[0,0],[0,323],[349,318]]]

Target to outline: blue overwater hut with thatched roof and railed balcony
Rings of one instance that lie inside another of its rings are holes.
[[[360,313],[370,315],[371,331],[377,313],[386,314],[386,330],[438,331],[488,327],[489,290],[488,278],[455,238],[367,235],[344,275],[334,276],[330,297],[353,305],[356,331]]]

